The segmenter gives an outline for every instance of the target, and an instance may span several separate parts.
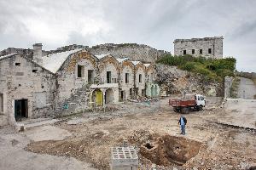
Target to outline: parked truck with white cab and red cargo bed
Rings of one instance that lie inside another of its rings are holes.
[[[189,110],[201,111],[206,101],[201,94],[186,94],[184,99],[169,99],[169,105],[176,112],[189,113]]]

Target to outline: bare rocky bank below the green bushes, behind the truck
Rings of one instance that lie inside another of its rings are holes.
[[[196,93],[207,96],[224,96],[223,83],[205,82],[203,77],[189,71],[182,71],[176,66],[156,65],[160,95]]]

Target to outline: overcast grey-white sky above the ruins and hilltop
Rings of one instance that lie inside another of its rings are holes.
[[[0,50],[137,42],[173,54],[174,39],[214,36],[256,72],[255,0],[0,0]]]

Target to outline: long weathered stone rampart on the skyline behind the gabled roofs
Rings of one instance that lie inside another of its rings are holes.
[[[114,43],[106,43],[101,45],[92,46],[89,48],[88,46],[84,45],[68,45],[61,48],[57,48],[50,51],[44,51],[43,55],[47,54],[55,54],[64,51],[69,51],[77,48],[84,48],[88,49],[91,54],[113,54],[115,58],[125,58],[129,57],[131,60],[140,60],[147,63],[152,63],[156,59],[158,59],[163,54],[171,54],[170,52],[164,50],[157,50],[155,48],[151,48],[147,45],[137,44],[137,43],[121,43],[121,44],[114,44]],[[7,48],[0,52],[0,56],[6,54],[13,54],[17,53],[22,56],[26,56],[27,58],[32,59],[33,50],[28,48]]]

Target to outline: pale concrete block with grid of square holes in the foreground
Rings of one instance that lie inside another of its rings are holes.
[[[138,156],[133,146],[111,148],[112,170],[137,170]]]

